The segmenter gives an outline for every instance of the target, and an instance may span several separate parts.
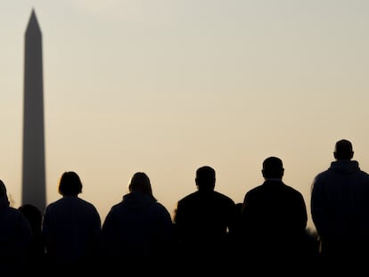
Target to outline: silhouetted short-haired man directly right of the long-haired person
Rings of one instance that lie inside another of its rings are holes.
[[[212,167],[199,167],[195,183],[197,191],[177,202],[173,216],[178,270],[184,275],[228,273],[234,269],[229,264],[234,255],[234,200],[215,191]]]

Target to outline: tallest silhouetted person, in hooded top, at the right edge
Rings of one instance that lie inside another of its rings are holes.
[[[311,215],[328,273],[362,269],[369,260],[369,175],[362,171],[348,140],[335,143],[331,166],[316,175]]]

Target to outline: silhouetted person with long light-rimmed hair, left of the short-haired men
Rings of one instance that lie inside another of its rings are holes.
[[[170,276],[170,214],[153,196],[145,173],[132,176],[128,191],[111,207],[102,224],[104,271],[111,276]]]

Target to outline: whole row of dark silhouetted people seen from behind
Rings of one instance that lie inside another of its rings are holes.
[[[331,166],[313,178],[307,232],[302,194],[283,182],[283,160],[267,157],[264,182],[235,203],[217,191],[216,170],[195,170],[195,191],[170,214],[150,178],[132,175],[127,193],[103,222],[78,197],[82,182],[62,173],[61,199],[40,211],[10,206],[0,180],[0,266],[9,275],[122,273],[147,276],[267,273],[312,275],[365,270],[369,254],[369,175],[353,159],[352,143],[337,141]]]

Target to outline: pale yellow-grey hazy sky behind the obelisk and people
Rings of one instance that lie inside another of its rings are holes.
[[[217,171],[235,202],[283,159],[310,185],[346,138],[369,170],[366,0],[0,1],[0,178],[21,205],[24,33],[43,35],[47,202],[76,171],[102,220],[143,171],[169,212]]]

